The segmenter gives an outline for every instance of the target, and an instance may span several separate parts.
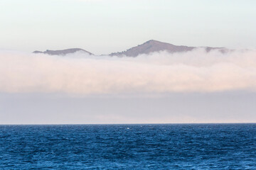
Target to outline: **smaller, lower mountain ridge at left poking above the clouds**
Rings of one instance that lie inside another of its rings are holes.
[[[75,52],[87,52],[86,50],[82,50],[81,48],[70,48],[70,49],[66,49],[66,50],[46,50],[44,52],[41,51],[34,51],[33,53],[43,53],[43,54],[47,54],[47,55],[68,55],[70,53],[75,53]],[[89,55],[93,55],[91,52],[87,52]]]

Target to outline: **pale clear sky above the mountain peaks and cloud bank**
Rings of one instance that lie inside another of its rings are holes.
[[[1,0],[0,49],[81,47],[97,55],[146,40],[256,47],[254,0]]]

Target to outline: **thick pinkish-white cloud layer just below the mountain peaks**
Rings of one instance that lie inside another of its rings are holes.
[[[256,91],[256,51],[155,52],[138,57],[0,52],[0,92],[137,94]]]

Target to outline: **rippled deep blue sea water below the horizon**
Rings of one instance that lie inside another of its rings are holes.
[[[0,169],[256,169],[256,124],[0,125]]]

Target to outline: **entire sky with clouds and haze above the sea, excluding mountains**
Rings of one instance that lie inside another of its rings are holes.
[[[255,6],[0,0],[0,124],[256,123]],[[233,50],[107,55],[147,40]]]

